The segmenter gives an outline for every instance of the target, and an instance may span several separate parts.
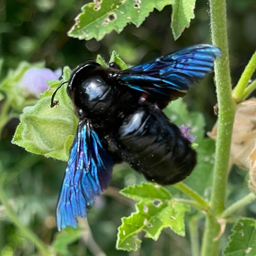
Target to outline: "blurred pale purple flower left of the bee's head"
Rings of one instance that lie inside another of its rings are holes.
[[[19,85],[24,89],[26,96],[32,95],[38,97],[40,93],[47,90],[47,80],[59,79],[61,77],[61,68],[52,71],[49,68],[31,67],[23,75]]]

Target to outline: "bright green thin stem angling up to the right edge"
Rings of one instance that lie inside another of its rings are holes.
[[[252,55],[249,63],[245,67],[235,89],[233,90],[233,99],[239,103],[243,99],[244,90],[247,87],[252,74],[256,69],[256,52]]]

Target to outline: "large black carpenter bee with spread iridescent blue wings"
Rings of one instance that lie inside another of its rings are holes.
[[[190,175],[196,152],[162,109],[211,72],[220,56],[219,48],[201,44],[125,70],[86,61],[73,71],[67,94],[79,124],[57,205],[59,230],[87,216],[117,162],[163,185]]]

